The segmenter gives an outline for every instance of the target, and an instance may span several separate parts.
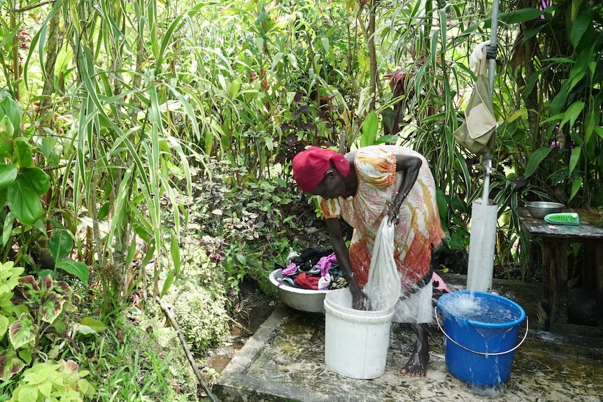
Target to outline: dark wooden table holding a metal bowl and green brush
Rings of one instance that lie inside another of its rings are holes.
[[[580,216],[580,224],[551,225],[539,220],[527,208],[514,208],[521,229],[542,241],[542,285],[548,299],[550,329],[567,324],[567,252],[572,243],[584,244],[583,287],[597,294],[597,323],[603,326],[603,210],[566,209]]]

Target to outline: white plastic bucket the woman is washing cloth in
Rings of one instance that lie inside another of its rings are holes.
[[[325,296],[325,364],[350,378],[377,378],[385,372],[393,308],[354,310],[350,289]]]

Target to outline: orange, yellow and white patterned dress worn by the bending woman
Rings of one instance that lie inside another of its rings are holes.
[[[402,277],[402,292],[408,292],[430,273],[431,247],[438,247],[445,238],[439,220],[434,178],[425,157],[409,148],[392,145],[360,148],[354,160],[358,177],[355,196],[329,200],[318,196],[318,201],[325,219],[341,215],[354,228],[349,247],[350,262],[358,285],[364,287],[376,232],[404,175],[404,171],[396,171],[396,155],[409,155],[423,161],[415,184],[400,206],[395,231],[394,259]]]

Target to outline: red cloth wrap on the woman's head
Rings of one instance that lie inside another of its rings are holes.
[[[331,162],[342,176],[350,174],[350,163],[334,150],[310,147],[293,158],[293,178],[304,192],[311,192],[325,178]]]

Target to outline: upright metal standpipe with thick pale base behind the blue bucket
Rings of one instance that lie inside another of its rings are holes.
[[[492,32],[490,45],[496,45],[498,29],[499,0],[492,1]],[[490,59],[488,80],[490,99],[494,99],[494,76],[496,60]],[[467,289],[490,292],[494,275],[494,253],[496,249],[497,204],[490,205],[490,173],[492,157],[490,151],[483,156],[483,193],[471,206],[471,238],[469,239],[469,266],[467,269]]]

